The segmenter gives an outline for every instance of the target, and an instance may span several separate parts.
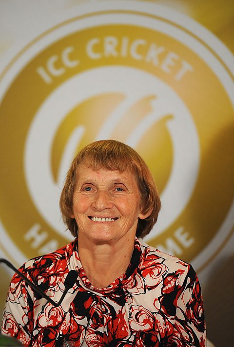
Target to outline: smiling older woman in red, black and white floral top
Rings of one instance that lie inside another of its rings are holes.
[[[139,239],[156,223],[160,199],[136,151],[114,140],[86,146],[60,208],[75,240],[20,270],[55,301],[69,270],[78,280],[55,308],[15,275],[3,333],[33,347],[206,345],[195,271]]]

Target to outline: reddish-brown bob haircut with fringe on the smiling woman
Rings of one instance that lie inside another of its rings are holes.
[[[85,164],[94,170],[104,168],[107,170],[129,171],[134,174],[139,188],[142,213],[152,211],[150,216],[139,219],[137,224],[137,237],[147,235],[157,221],[161,207],[154,178],[137,152],[128,145],[116,140],[100,140],[84,147],[73,160],[67,173],[64,187],[60,196],[60,210],[63,221],[72,235],[78,236],[78,226],[73,214],[73,194],[77,183],[77,169],[80,164]]]

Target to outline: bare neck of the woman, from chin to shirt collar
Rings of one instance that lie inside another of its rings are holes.
[[[78,238],[79,258],[94,287],[108,287],[127,270],[134,250],[134,239],[128,237],[123,242],[96,244]]]

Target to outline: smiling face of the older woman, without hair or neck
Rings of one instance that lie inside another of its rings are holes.
[[[81,164],[73,195],[73,214],[79,237],[112,242],[135,236],[141,213],[137,181],[129,171],[93,170]]]

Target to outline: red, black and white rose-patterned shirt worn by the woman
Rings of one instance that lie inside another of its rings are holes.
[[[20,268],[57,302],[67,273],[78,271],[77,282],[58,308],[13,276],[3,334],[32,347],[206,346],[201,289],[191,265],[136,239],[126,272],[98,289],[82,268],[77,246],[75,239]]]

